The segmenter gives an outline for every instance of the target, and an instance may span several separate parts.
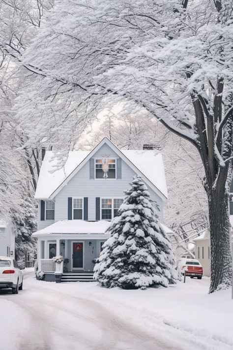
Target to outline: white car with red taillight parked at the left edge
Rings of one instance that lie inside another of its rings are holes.
[[[11,288],[12,294],[23,289],[23,272],[13,257],[0,256],[0,289]]]

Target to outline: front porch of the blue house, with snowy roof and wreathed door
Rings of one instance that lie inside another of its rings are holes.
[[[68,272],[71,277],[82,273],[93,275],[94,260],[109,238],[105,233],[109,224],[106,221],[64,220],[33,233],[32,236],[37,237],[38,271],[44,272],[46,281],[54,281],[56,275]],[[53,260],[59,255],[64,258],[60,264]],[[82,277],[79,276],[80,280]]]

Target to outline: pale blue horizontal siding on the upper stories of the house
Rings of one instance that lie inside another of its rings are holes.
[[[92,158],[102,158],[103,155],[109,158],[119,158],[107,144],[104,144]],[[45,228],[59,220],[68,220],[68,197],[87,197],[88,220],[96,220],[96,197],[113,198],[122,196],[123,198],[124,191],[129,188],[129,183],[132,181],[134,175],[136,173],[121,159],[121,179],[90,179],[90,166],[89,161],[87,161],[54,198],[55,221],[39,220],[38,229]],[[163,201],[150,187],[148,187],[148,190],[151,199],[156,201],[159,206],[160,211],[158,212],[158,216],[160,222],[163,222]],[[40,213],[38,213],[38,218],[40,218]]]

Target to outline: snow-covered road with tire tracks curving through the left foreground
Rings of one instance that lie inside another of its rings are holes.
[[[17,296],[0,293],[0,300],[5,301],[10,315],[5,320],[9,322],[9,333],[0,337],[1,340],[5,338],[1,349],[179,349],[158,334],[119,318],[98,301],[51,291],[43,282],[37,282],[35,288],[32,275],[34,277],[33,273],[26,274],[24,290]]]

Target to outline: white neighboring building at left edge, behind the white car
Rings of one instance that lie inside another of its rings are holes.
[[[0,256],[15,256],[15,234],[10,223],[0,221]]]

